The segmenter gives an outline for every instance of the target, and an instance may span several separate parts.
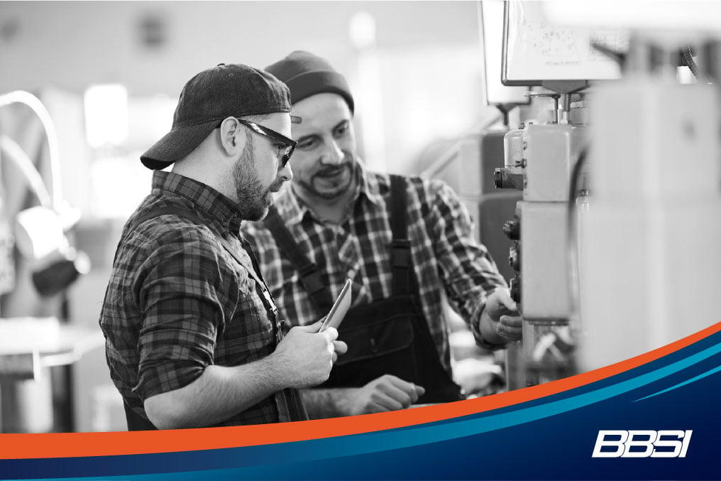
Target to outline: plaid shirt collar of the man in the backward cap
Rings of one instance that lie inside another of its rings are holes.
[[[187,199],[205,217],[220,222],[231,232],[239,231],[242,219],[238,204],[211,186],[164,170],[156,170],[153,173],[152,186],[153,194],[169,194]]]

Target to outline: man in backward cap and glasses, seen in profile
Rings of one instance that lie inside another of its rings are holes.
[[[283,337],[239,237],[293,177],[290,110],[272,75],[220,64],[185,84],[172,129],[141,156],[151,194],[123,228],[99,321],[128,429],[306,419],[297,389],[345,352],[335,329]]]

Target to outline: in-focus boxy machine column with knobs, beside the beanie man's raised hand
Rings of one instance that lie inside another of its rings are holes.
[[[554,87],[576,90],[579,84]],[[568,288],[567,224],[570,195],[575,202],[575,188],[570,193],[572,170],[585,147],[586,129],[583,123],[568,121],[571,92],[527,95],[552,99],[552,120],[529,120],[521,129],[508,131],[505,166],[495,170],[498,188],[523,191],[516,215],[503,228],[513,241],[508,257],[516,273],[510,281],[511,298],[524,321],[522,347],[512,346],[508,352],[510,389],[565,377],[575,370],[570,356],[574,340],[569,329],[573,302]],[[583,100],[577,104],[584,105]]]

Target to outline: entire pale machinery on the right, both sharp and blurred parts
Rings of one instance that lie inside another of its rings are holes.
[[[532,99],[495,171],[497,187],[523,192],[503,228],[524,321],[523,341],[508,349],[509,389],[720,321],[720,103],[707,83],[719,79],[715,35],[644,23],[655,16],[595,25],[591,14],[588,25],[557,27],[544,2],[483,4],[505,9],[501,78],[487,83],[527,86]],[[690,14],[709,25],[721,9]],[[678,66],[696,83],[681,84]]]

